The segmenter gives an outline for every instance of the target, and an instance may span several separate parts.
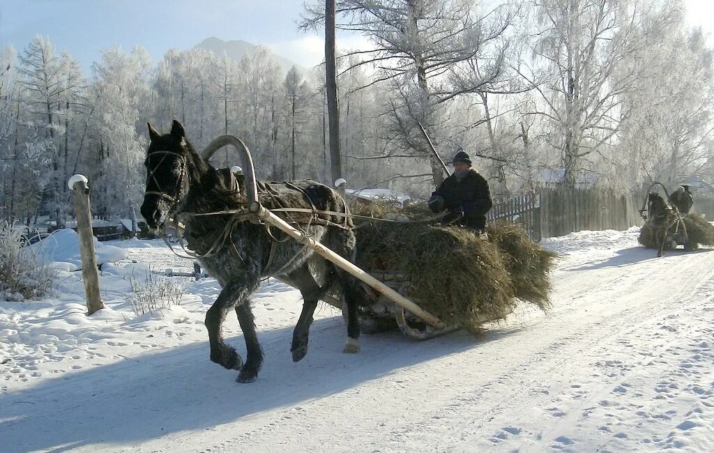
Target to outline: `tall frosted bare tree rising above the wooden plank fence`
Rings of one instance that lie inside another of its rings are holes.
[[[538,86],[548,143],[560,154],[565,183],[575,185],[615,150],[630,116],[625,95],[643,69],[631,62],[659,27],[642,20],[653,6],[638,1],[534,0],[530,7],[533,59],[521,73]],[[547,78],[536,80],[533,68],[545,68]]]

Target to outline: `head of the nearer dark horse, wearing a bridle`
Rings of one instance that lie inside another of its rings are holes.
[[[188,166],[191,144],[181,123],[174,120],[171,132],[161,135],[149,124],[149,149],[146,153],[146,192],[141,215],[150,228],[164,225],[188,193]]]

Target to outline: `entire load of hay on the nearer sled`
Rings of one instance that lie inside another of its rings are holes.
[[[423,207],[369,210],[353,208],[353,213],[403,220],[432,215]],[[516,297],[543,310],[548,305],[555,254],[516,225],[490,225],[487,239],[471,230],[423,222],[356,223],[357,265],[371,273],[400,275],[406,280],[403,295],[447,324],[478,332],[483,322],[513,312]]]

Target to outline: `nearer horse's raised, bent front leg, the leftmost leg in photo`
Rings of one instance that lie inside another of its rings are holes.
[[[240,370],[243,365],[241,356],[235,348],[223,342],[221,327],[226,315],[236,306],[236,303],[246,300],[251,290],[246,285],[228,283],[216,302],[206,312],[206,329],[208,329],[208,343],[211,346],[211,362],[216,362],[228,370]]]

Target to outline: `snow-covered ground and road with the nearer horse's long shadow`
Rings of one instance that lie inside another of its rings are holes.
[[[544,240],[560,253],[553,308],[524,306],[476,339],[363,335],[318,310],[293,363],[300,296],[253,300],[266,362],[253,384],[208,360],[212,279],[137,316],[129,276],[191,270],[164,243],[111,245],[106,309],[87,317],[80,273],[55,297],[0,302],[0,451],[714,451],[714,253],[667,253],[636,230]],[[119,257],[121,258],[121,257]],[[136,261],[136,263],[134,263]],[[238,322],[226,338],[244,351]]]

